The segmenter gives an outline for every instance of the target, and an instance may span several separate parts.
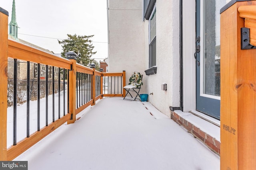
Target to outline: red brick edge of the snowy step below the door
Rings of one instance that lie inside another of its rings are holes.
[[[220,142],[217,141],[215,138],[211,137],[204,131],[201,131],[198,127],[193,125],[192,123],[186,121],[174,111],[171,111],[171,119],[174,120],[179,125],[182,125],[184,128],[187,129],[188,133],[194,135],[195,138],[202,141],[208,148],[210,148],[213,152],[220,155]]]

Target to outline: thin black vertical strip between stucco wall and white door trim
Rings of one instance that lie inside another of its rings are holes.
[[[180,0],[180,110],[183,111],[183,16],[182,0]]]

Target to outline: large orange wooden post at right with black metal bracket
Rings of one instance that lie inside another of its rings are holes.
[[[221,170],[256,168],[256,49],[248,37],[256,24],[248,29],[240,13],[255,12],[253,5],[254,0],[232,0],[221,9]]]

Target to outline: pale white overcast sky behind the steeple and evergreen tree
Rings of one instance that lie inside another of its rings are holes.
[[[0,2],[9,12],[8,23],[12,1]],[[58,39],[68,38],[67,34],[94,35],[97,53],[92,58],[103,61],[108,57],[106,0],[15,0],[15,4],[18,38],[58,54],[62,52]]]

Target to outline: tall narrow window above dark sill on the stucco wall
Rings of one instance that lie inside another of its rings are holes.
[[[149,67],[156,66],[156,7],[149,20]]]

